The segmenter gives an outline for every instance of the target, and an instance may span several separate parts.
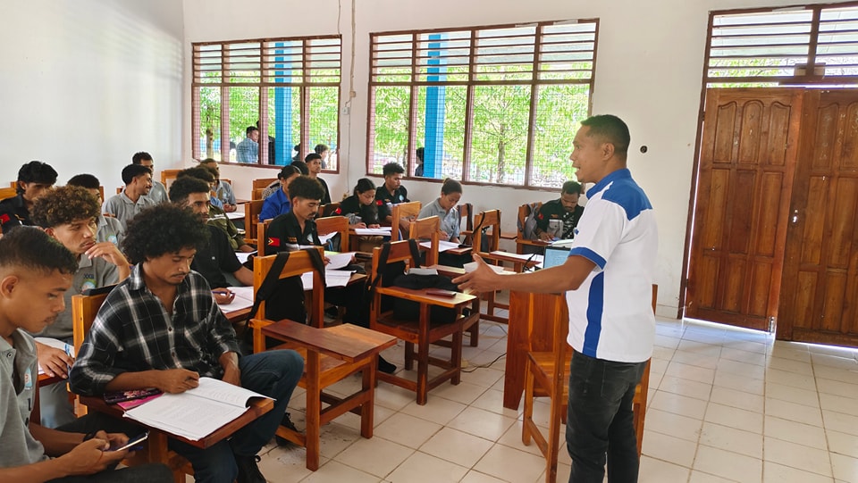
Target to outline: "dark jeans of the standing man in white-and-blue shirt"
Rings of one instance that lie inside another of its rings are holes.
[[[577,351],[569,375],[566,446],[570,483],[637,481],[639,461],[632,400],[646,362],[611,362]]]

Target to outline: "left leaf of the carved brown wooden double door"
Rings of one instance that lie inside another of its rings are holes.
[[[777,316],[803,89],[710,89],[686,316],[770,330]]]

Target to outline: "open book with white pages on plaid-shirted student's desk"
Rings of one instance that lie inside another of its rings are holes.
[[[253,397],[265,397],[219,379],[199,378],[199,387],[164,394],[125,412],[125,417],[198,441],[247,411]]]

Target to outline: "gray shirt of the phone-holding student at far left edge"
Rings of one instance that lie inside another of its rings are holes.
[[[38,390],[38,359],[33,338],[21,329],[13,346],[0,337],[0,467],[13,468],[47,459],[45,447],[29,432],[29,414]]]

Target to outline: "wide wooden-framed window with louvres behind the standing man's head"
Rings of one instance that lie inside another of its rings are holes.
[[[559,188],[575,179],[598,20],[370,35],[366,171]],[[423,163],[417,160],[422,148]]]

